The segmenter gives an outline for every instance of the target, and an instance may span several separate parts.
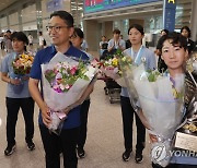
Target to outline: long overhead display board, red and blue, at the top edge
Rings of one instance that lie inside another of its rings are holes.
[[[84,0],[84,14],[162,0]]]

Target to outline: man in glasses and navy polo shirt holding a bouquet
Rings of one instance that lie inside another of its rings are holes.
[[[63,109],[67,113],[67,119],[62,123],[62,129],[59,135],[49,132],[51,124],[50,110],[43,98],[43,93],[39,92],[38,83],[42,80],[42,64],[50,62],[55,59],[57,52],[61,52],[62,58],[66,56],[74,57],[76,59],[88,60],[89,57],[70,45],[70,37],[73,35],[73,17],[66,11],[55,11],[50,14],[49,25],[47,26],[48,34],[53,45],[39,50],[31,70],[30,92],[32,97],[37,103],[39,112],[39,130],[45,149],[46,167],[60,168],[60,151],[63,155],[63,166],[66,168],[77,168],[78,157],[76,153],[77,142],[80,128],[80,106],[79,104],[71,105]],[[43,84],[42,84],[42,89]],[[45,95],[44,95],[45,96]],[[68,97],[68,98],[71,98]],[[53,100],[53,97],[49,98]],[[59,105],[60,106],[60,105]],[[58,107],[57,107],[58,108]],[[60,109],[62,110],[62,109]]]

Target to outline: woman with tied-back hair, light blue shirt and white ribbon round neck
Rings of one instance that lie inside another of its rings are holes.
[[[136,65],[144,63],[147,70],[155,69],[154,53],[142,46],[142,38],[144,36],[143,27],[138,24],[131,25],[128,29],[128,36],[131,43],[131,47],[126,49],[124,51],[124,55],[130,56]],[[120,105],[125,139],[125,152],[123,154],[123,160],[128,161],[132,152],[132,121],[135,115],[137,125],[137,145],[135,160],[137,164],[139,164],[143,159],[142,151],[144,148],[146,129],[130,104],[128,91],[126,87],[121,87]]]

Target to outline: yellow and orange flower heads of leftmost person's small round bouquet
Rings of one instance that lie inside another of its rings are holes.
[[[12,62],[13,71],[15,74],[28,74],[34,61],[34,57],[30,53],[19,55]]]

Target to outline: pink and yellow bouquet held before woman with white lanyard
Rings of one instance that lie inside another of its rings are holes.
[[[108,56],[105,60],[101,60],[100,70],[108,77],[115,80],[120,86],[125,87],[125,80],[119,62],[132,63],[131,57],[124,56],[121,51],[117,50],[116,53]]]

